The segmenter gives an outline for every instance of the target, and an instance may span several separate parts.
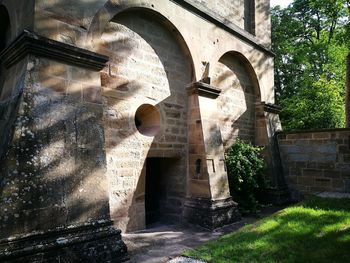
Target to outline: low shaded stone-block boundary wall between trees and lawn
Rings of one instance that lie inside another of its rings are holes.
[[[278,135],[284,174],[294,197],[322,191],[350,192],[350,130]]]

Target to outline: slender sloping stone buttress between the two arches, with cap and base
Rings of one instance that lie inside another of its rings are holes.
[[[221,90],[196,82],[189,96],[189,174],[184,217],[215,229],[239,218],[230,196],[216,98]]]

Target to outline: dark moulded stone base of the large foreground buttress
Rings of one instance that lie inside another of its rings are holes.
[[[121,231],[114,229],[112,223],[104,220],[2,239],[0,261],[36,262],[40,258],[40,262],[51,262],[57,257],[63,262],[100,262],[101,258],[123,261],[127,248],[121,239]]]

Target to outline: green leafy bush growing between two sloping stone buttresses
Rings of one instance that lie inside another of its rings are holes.
[[[261,151],[260,147],[237,140],[225,153],[230,192],[241,213],[258,210],[257,193],[265,187]]]

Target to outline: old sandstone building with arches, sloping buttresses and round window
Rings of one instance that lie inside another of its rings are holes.
[[[0,0],[0,261],[121,261],[120,230],[237,219],[236,138],[279,184],[270,44],[269,0]]]

